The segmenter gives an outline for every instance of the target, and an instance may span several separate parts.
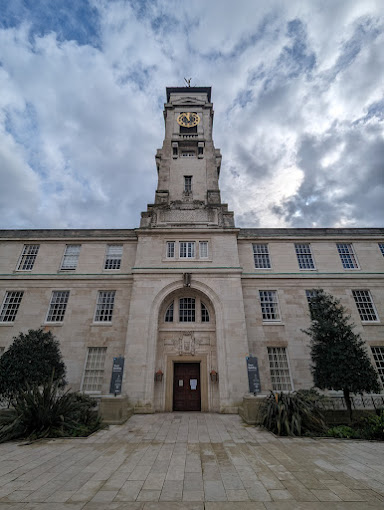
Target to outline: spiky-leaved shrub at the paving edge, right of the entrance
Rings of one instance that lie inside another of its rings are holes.
[[[322,434],[325,422],[320,402],[315,390],[271,392],[261,408],[262,425],[279,436]]]

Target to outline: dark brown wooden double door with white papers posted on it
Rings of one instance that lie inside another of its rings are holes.
[[[175,363],[173,374],[173,410],[201,411],[200,363]]]

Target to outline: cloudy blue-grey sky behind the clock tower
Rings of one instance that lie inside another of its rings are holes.
[[[383,0],[0,0],[0,228],[137,227],[184,77],[238,226],[382,225]]]

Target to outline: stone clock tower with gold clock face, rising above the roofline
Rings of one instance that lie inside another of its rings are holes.
[[[141,228],[234,227],[233,213],[220,198],[212,106],[211,87],[167,88],[155,203],[142,213]]]

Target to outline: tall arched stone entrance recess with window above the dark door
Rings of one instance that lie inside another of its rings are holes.
[[[181,288],[162,302],[158,316],[156,411],[218,411],[216,315],[201,291]]]

